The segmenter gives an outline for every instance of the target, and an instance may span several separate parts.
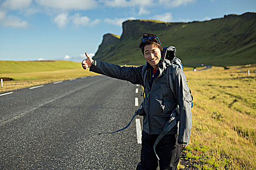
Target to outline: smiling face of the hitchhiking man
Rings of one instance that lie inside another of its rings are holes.
[[[146,45],[144,47],[144,57],[150,66],[157,69],[157,64],[161,58],[161,51],[156,44]]]

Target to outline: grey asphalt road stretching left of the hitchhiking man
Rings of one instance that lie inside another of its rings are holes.
[[[98,133],[130,121],[136,88],[95,76],[0,96],[0,170],[135,170],[135,120]]]

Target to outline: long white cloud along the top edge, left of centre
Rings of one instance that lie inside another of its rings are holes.
[[[61,10],[88,10],[97,7],[97,0],[36,0],[40,5]]]

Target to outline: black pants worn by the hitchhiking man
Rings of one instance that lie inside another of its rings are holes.
[[[149,135],[142,131],[140,162],[136,170],[157,170],[158,158],[153,149],[157,138],[158,135]],[[156,152],[160,159],[160,170],[177,170],[180,150],[176,134],[163,136],[156,147]]]

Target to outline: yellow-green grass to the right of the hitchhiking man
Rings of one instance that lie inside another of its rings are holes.
[[[185,72],[194,107],[190,145],[184,152],[195,168],[256,169],[255,69],[236,66]]]

